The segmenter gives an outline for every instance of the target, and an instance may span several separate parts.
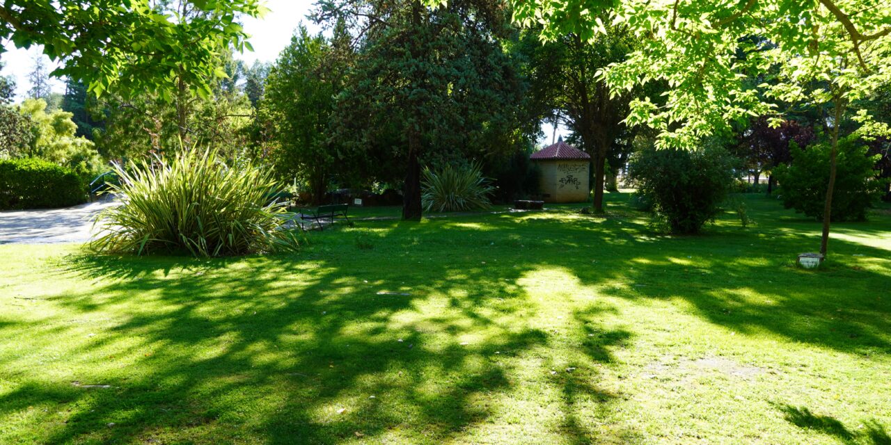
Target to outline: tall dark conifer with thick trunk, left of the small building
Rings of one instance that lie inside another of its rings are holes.
[[[495,40],[507,32],[503,4],[460,0],[441,8],[421,0],[324,0],[316,20],[342,19],[361,44],[341,94],[341,128],[365,145],[395,130],[405,159],[404,220],[421,219],[421,162],[434,147],[478,134],[509,110],[499,89],[515,73]]]

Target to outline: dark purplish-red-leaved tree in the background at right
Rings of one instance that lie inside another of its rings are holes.
[[[780,126],[771,127],[767,117],[759,117],[752,121],[748,129],[740,137],[740,154],[746,157],[749,164],[758,172],[767,172],[767,194],[771,194],[776,180],[772,170],[777,166],[791,162],[790,143],[805,148],[814,142],[816,135],[813,127],[801,125],[795,120],[786,120]]]

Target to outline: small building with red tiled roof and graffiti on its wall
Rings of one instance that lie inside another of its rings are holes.
[[[584,202],[588,200],[591,157],[563,142],[538,150],[530,157],[541,166],[544,202]]]

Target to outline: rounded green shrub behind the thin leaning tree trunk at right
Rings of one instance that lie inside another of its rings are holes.
[[[830,181],[830,144],[813,144],[806,150],[791,145],[790,150],[792,164],[780,166],[776,173],[783,206],[822,219]],[[866,209],[881,198],[887,182],[880,180],[879,172],[873,169],[880,155],[870,157],[868,151],[853,136],[838,141],[832,221],[862,221],[866,219]]]

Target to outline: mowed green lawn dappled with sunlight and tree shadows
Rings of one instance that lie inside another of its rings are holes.
[[[0,246],[0,443],[891,442],[888,206],[804,271],[820,225],[775,199],[696,237],[627,200],[289,256]]]

